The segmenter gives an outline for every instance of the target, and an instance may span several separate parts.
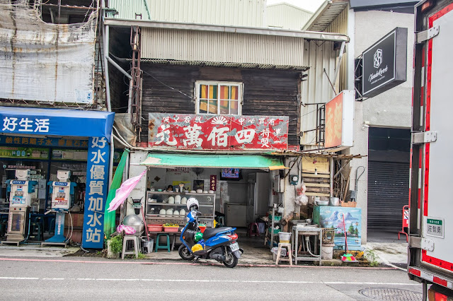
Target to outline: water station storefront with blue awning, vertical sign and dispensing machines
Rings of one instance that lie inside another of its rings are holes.
[[[113,117],[112,112],[0,107],[0,235],[6,234],[7,243],[73,240],[103,248]],[[15,221],[12,212],[24,214]],[[17,228],[13,223],[21,225],[17,239],[9,235]]]

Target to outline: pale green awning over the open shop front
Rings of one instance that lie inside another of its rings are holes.
[[[149,153],[140,165],[152,167],[212,167],[280,170],[280,158],[265,155],[193,155]]]

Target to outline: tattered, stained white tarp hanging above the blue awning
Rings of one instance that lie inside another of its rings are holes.
[[[96,10],[51,24],[28,2],[0,0],[0,98],[92,104]]]

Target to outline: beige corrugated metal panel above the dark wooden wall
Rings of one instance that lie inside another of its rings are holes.
[[[304,39],[142,28],[142,58],[304,66]]]

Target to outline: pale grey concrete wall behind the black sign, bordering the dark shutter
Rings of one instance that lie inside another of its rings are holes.
[[[386,92],[355,103],[354,146],[345,153],[368,155],[369,126],[410,128],[411,97],[412,97],[412,58],[413,58],[413,18],[408,13],[392,13],[386,11],[359,11],[353,13],[354,22],[354,57],[370,47],[379,38],[396,27],[408,28],[408,63],[407,81]],[[354,65],[349,62],[350,67]],[[367,241],[367,182],[368,158],[352,160],[350,189],[355,189],[355,171],[357,167],[365,167],[365,173],[358,181],[357,207],[362,208],[362,244]]]

